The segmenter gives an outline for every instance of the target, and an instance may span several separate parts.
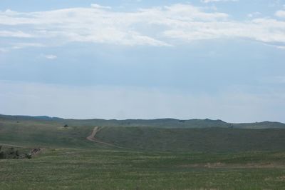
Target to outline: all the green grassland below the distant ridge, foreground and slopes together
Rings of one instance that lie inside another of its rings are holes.
[[[79,121],[76,121],[79,122]],[[284,189],[284,129],[94,126],[3,119],[2,149],[41,147],[0,159],[0,189]],[[266,128],[266,127],[265,127]]]

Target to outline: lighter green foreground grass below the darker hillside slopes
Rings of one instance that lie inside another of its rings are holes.
[[[1,189],[282,189],[285,152],[48,149],[0,160]]]

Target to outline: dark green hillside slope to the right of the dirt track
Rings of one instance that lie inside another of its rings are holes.
[[[105,127],[96,138],[118,146],[156,151],[285,150],[284,129]]]

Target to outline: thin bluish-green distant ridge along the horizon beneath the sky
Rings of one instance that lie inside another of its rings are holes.
[[[46,121],[69,126],[150,126],[157,128],[234,128],[234,129],[285,129],[281,122],[262,121],[255,123],[233,124],[220,119],[62,119],[50,116],[11,116],[1,115],[1,120],[11,121]]]

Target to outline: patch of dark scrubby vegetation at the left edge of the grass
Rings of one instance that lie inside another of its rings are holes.
[[[31,159],[33,156],[39,154],[42,151],[41,148],[27,150],[17,150],[14,147],[3,149],[0,146],[0,159]]]

